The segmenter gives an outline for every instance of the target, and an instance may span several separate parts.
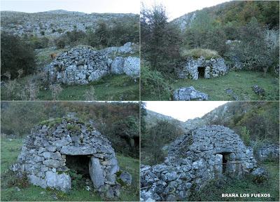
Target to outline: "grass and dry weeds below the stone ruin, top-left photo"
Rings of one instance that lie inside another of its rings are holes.
[[[48,85],[43,83],[38,76],[26,76],[5,81],[1,86],[1,99],[139,100],[139,82],[126,75],[109,75],[87,85],[66,86]]]

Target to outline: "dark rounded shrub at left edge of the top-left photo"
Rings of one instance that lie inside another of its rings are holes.
[[[15,79],[19,69],[27,75],[33,73],[35,68],[35,55],[31,46],[18,36],[1,33],[1,72],[10,72],[10,78]]]

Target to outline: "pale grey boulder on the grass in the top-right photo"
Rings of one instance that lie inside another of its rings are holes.
[[[190,86],[190,87],[183,87],[174,90],[173,100],[176,101],[208,100],[208,95],[206,93],[202,93],[198,90],[195,90],[193,86]]]

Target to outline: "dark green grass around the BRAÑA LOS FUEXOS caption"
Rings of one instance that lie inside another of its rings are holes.
[[[263,163],[269,173],[264,184],[255,184],[251,177],[242,180],[213,181],[190,198],[192,201],[279,201],[279,163]],[[270,194],[270,198],[222,198],[221,194]]]

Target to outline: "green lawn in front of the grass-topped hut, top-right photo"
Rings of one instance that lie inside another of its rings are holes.
[[[239,100],[279,100],[279,78],[271,74],[263,77],[262,72],[229,72],[225,76],[212,79],[178,79],[170,83],[173,90],[193,86],[196,90],[209,95],[209,100],[234,100],[226,89],[230,88]],[[253,93],[251,86],[258,85],[265,89],[265,97]],[[173,92],[173,91],[172,91]],[[160,95],[142,95],[141,100],[170,100],[172,92]]]

